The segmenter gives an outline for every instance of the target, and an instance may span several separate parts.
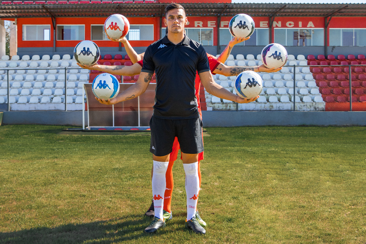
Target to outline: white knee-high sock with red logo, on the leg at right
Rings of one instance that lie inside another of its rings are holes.
[[[186,194],[187,194],[187,220],[196,214],[197,198],[199,192],[198,162],[183,163],[186,173]]]

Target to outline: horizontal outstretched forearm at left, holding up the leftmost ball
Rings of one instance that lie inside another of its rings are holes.
[[[94,64],[92,66],[84,66],[78,63],[80,67],[83,69],[88,70],[99,70],[105,73],[109,74],[117,74],[117,75],[136,75],[140,74],[141,72],[141,65],[138,63],[135,63],[131,66],[124,66],[124,65],[100,65],[100,64]]]

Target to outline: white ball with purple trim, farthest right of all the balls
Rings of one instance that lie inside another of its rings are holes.
[[[262,50],[262,63],[269,69],[278,69],[287,62],[287,50],[283,45],[271,43]]]

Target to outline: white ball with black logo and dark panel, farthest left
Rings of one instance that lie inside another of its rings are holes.
[[[74,57],[76,62],[85,66],[92,66],[98,62],[100,51],[92,41],[81,41],[74,49]]]

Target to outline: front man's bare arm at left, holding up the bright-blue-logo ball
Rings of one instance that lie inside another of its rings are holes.
[[[129,88],[119,93],[113,99],[108,99],[107,101],[104,99],[99,99],[97,97],[95,99],[97,99],[97,101],[99,101],[102,104],[110,105],[119,103],[121,101],[130,100],[132,98],[136,98],[146,91],[146,88],[149,85],[151,78],[153,77],[153,73],[154,72],[151,73],[141,72],[135,84],[131,85]]]

